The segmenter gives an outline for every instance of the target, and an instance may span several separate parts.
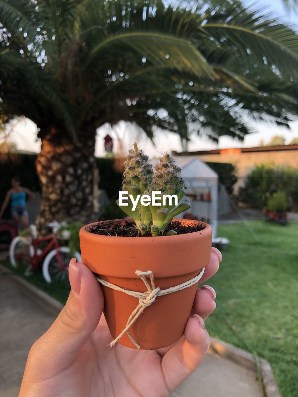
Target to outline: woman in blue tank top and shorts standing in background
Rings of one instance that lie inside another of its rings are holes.
[[[7,207],[9,200],[11,200],[11,213],[16,226],[18,227],[19,222],[21,221],[22,229],[26,229],[29,225],[26,195],[29,196],[29,202],[35,197],[35,194],[26,187],[20,186],[20,179],[17,176],[12,178],[11,184],[12,189],[6,193],[5,200],[0,210],[0,218],[2,218],[3,212]]]

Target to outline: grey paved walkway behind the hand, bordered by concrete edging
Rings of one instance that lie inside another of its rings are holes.
[[[17,397],[29,349],[54,318],[31,295],[21,291],[11,276],[0,276],[0,397]],[[207,355],[194,374],[171,394],[197,396],[259,397],[255,372]]]

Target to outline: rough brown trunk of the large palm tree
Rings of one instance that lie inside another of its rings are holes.
[[[95,169],[95,130],[86,127],[80,143],[65,131],[50,127],[41,130],[41,152],[36,169],[42,188],[36,225],[39,234],[48,232],[48,223],[90,222],[93,213],[93,173]],[[80,139],[81,138],[81,139]]]

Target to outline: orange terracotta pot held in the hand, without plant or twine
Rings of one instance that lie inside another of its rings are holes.
[[[198,222],[180,221],[185,225]],[[212,229],[207,224],[201,231],[162,237],[102,236],[90,233],[91,225],[95,224],[82,227],[79,233],[82,262],[102,279],[132,291],[147,291],[143,281],[135,275],[136,270],[151,270],[155,286],[166,289],[194,278],[210,260]],[[105,286],[102,288],[104,316],[115,338],[126,327],[138,299]],[[157,297],[145,308],[130,328],[141,349],[166,347],[182,337],[196,290],[197,284],[194,284],[182,291]],[[126,333],[118,343],[136,348]]]

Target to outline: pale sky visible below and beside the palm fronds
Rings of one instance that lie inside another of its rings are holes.
[[[246,4],[251,4],[251,1],[245,0]],[[272,10],[276,15],[282,17],[285,21],[294,23],[298,26],[298,13],[288,12],[283,6],[281,0],[259,0],[258,7],[264,7],[267,11]],[[298,28],[297,28],[298,29]],[[209,150],[216,148],[229,148],[229,147],[250,147],[258,146],[261,140],[268,142],[273,135],[283,135],[286,143],[289,143],[294,137],[298,137],[298,121],[290,124],[291,130],[279,128],[275,125],[266,123],[255,123],[252,125],[256,133],[246,135],[244,142],[238,142],[229,137],[221,137],[219,143],[215,144],[207,138],[192,136],[188,145],[189,151],[196,150]],[[153,157],[158,155],[159,151],[176,150],[181,151],[180,138],[175,133],[158,130],[155,134],[154,144],[145,136],[140,134],[131,125],[120,122],[114,129],[110,126],[104,125],[97,130],[97,138],[95,145],[95,155],[104,156],[104,136],[109,134],[114,140],[115,152],[118,150],[118,138],[123,143],[124,150],[136,141],[138,145],[146,150],[149,156]],[[31,120],[24,120],[18,123],[12,133],[11,140],[17,143],[17,148],[21,150],[29,150],[32,152],[39,152],[41,142],[37,139],[37,126]]]

